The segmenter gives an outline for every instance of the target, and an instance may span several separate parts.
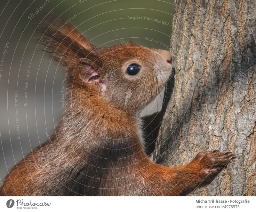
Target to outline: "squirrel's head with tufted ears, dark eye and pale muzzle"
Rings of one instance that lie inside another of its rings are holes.
[[[45,21],[38,31],[44,50],[68,69],[72,89],[76,85],[80,95],[96,95],[129,114],[147,106],[172,73],[172,56],[166,50],[133,42],[96,48],[61,18]]]

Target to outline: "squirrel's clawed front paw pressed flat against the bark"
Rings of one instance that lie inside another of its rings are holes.
[[[199,167],[199,175],[203,184],[210,184],[212,180],[234,159],[232,152],[204,151],[199,152],[191,162]]]

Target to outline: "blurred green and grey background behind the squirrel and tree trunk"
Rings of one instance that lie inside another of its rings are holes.
[[[174,0],[2,2],[1,184],[16,163],[52,135],[64,111],[61,88],[65,71],[42,51],[34,34],[35,20],[43,19],[49,12],[71,18],[71,23],[97,47],[133,41],[149,48],[170,48]],[[160,110],[161,98],[158,96],[142,113]]]

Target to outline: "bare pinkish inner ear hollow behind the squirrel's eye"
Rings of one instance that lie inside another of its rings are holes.
[[[106,90],[105,82],[89,62],[82,61],[79,66],[79,77],[84,83],[97,86],[101,93]]]

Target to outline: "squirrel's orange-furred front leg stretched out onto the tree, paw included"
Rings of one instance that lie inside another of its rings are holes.
[[[152,162],[144,169],[144,180],[152,195],[185,196],[210,184],[233,158],[231,152],[215,150],[200,152],[190,163],[172,168]]]

